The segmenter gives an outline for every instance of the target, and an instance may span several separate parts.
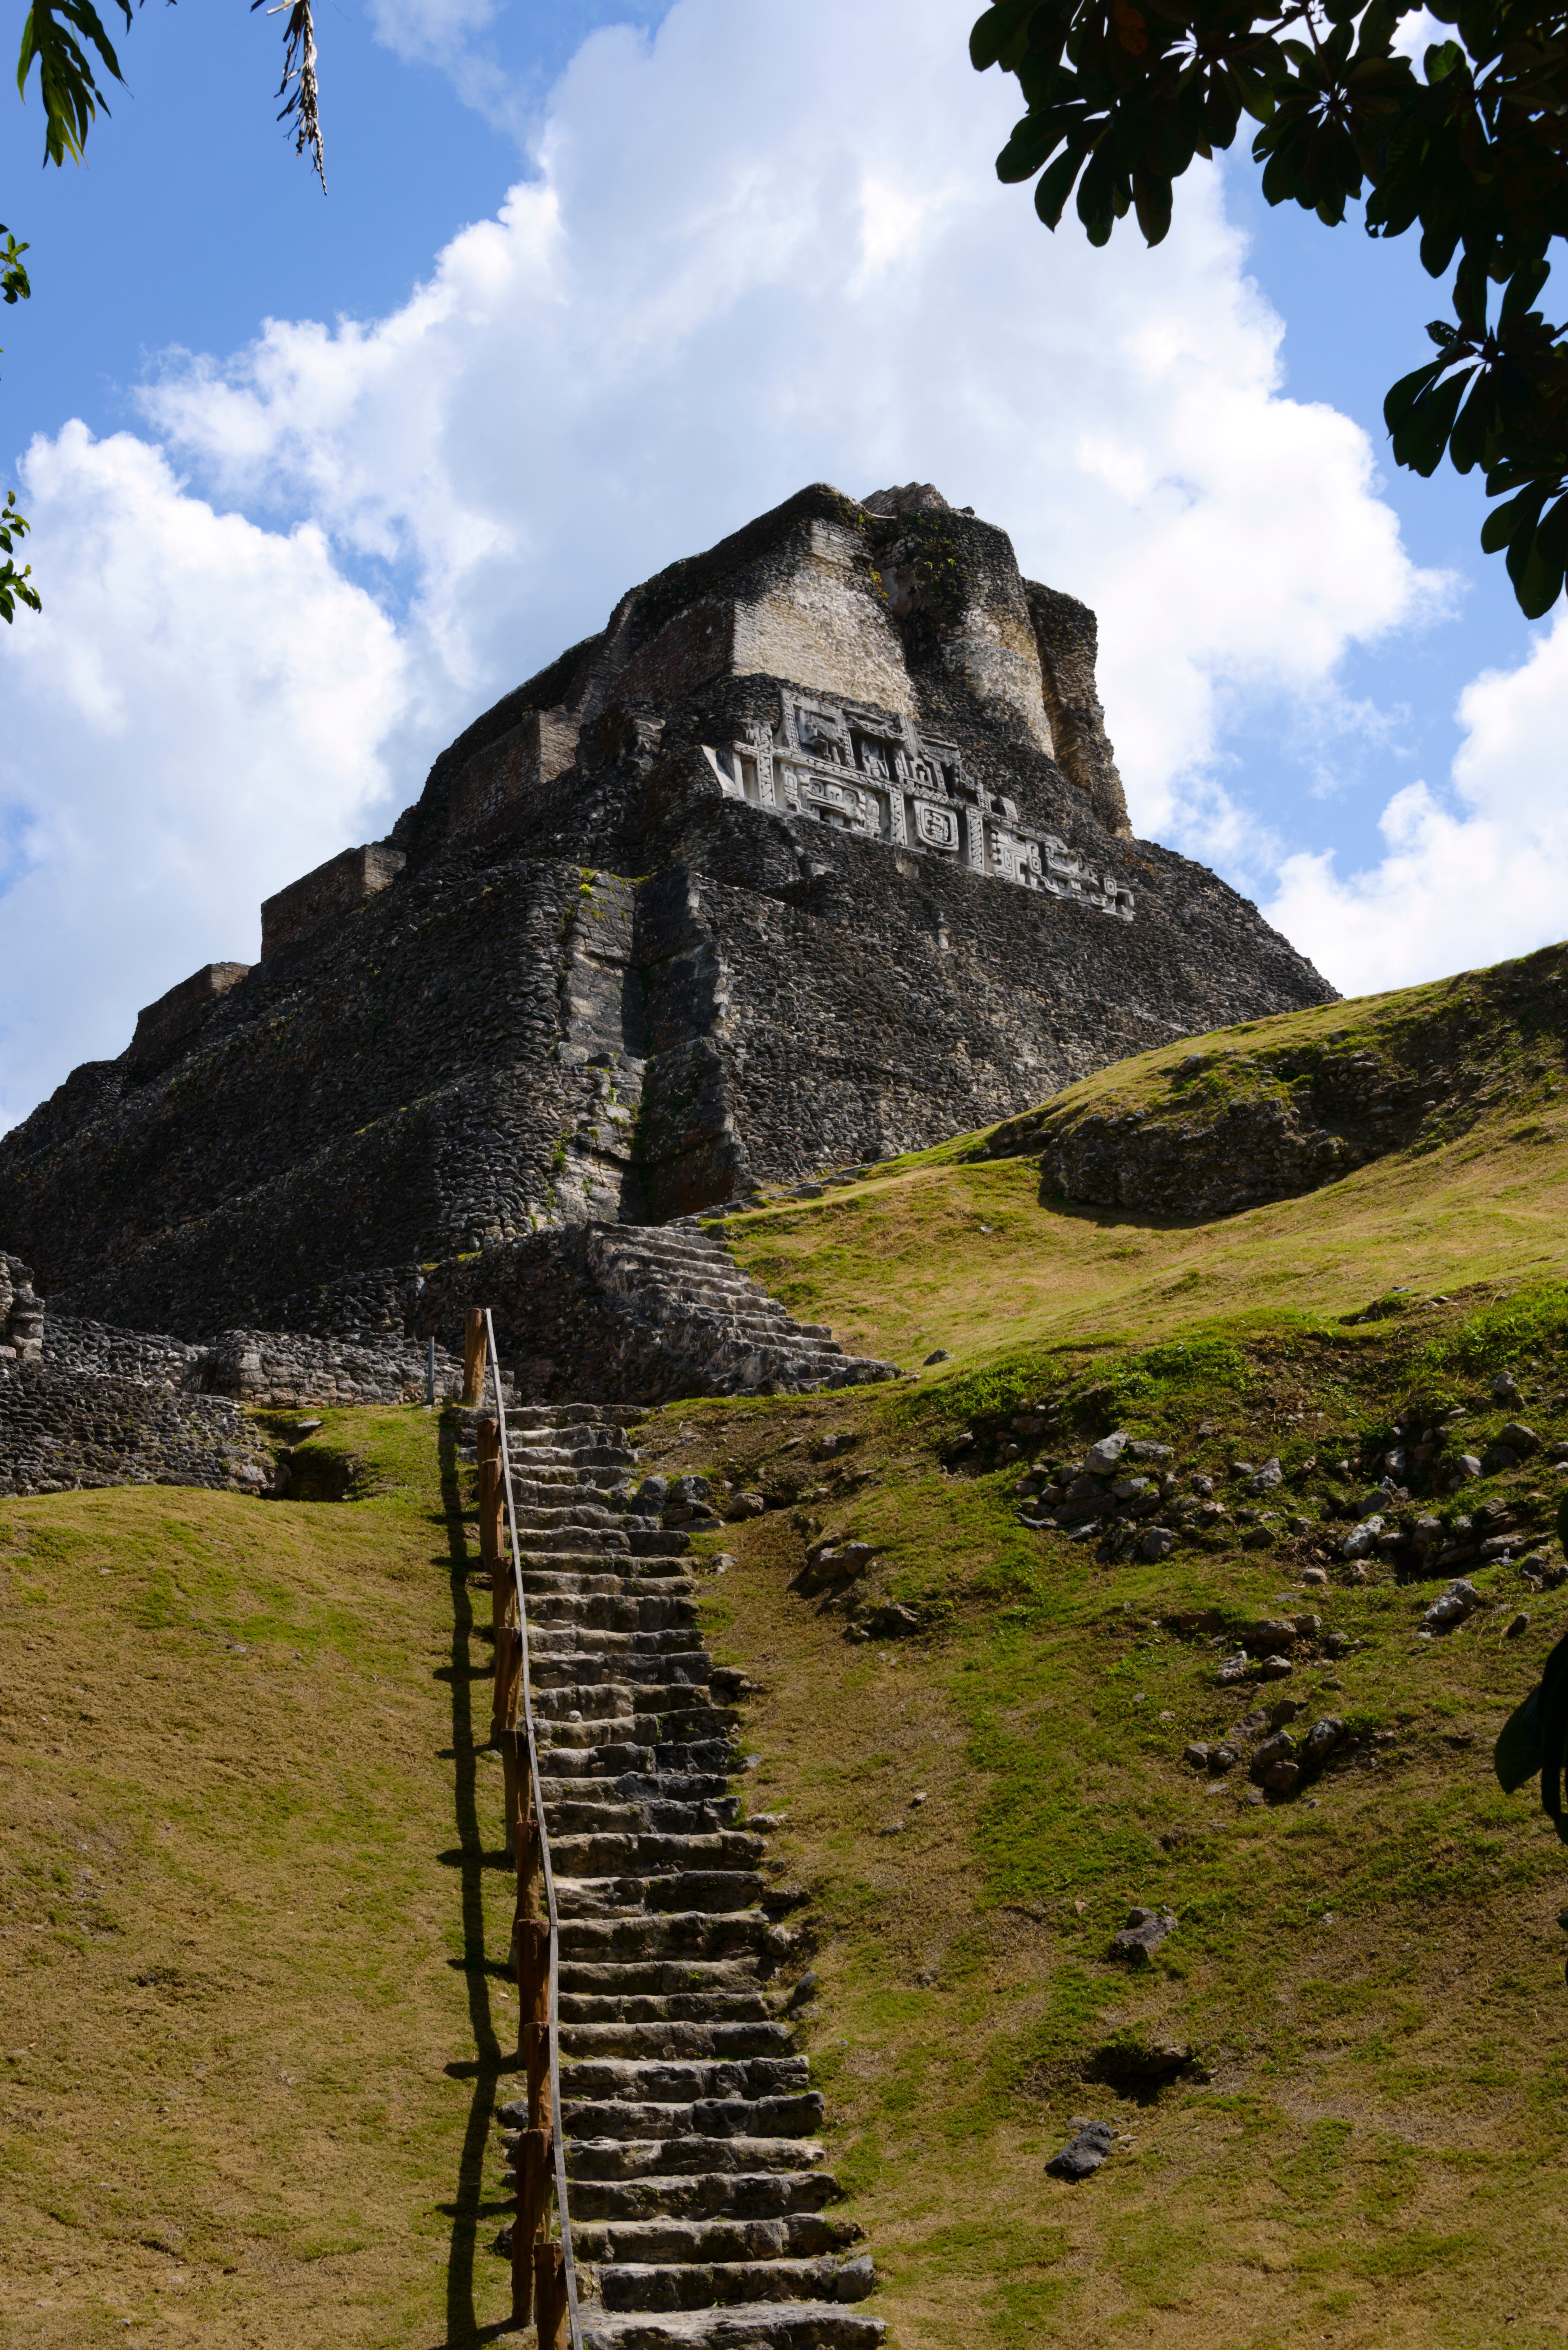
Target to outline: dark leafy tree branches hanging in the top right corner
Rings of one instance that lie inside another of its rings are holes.
[[[1392,385],[1394,458],[1432,475],[1481,468],[1502,503],[1481,545],[1507,552],[1540,618],[1568,571],[1568,327],[1535,308],[1568,235],[1568,9],[1436,0],[1453,40],[1418,73],[1396,47],[1420,0],[994,0],[971,33],[978,70],[1018,78],[1027,113],[997,157],[1034,179],[1056,228],[1074,197],[1091,244],[1133,212],[1171,228],[1173,186],[1255,125],[1269,204],[1331,228],[1366,197],[1375,237],[1420,230],[1432,277],[1453,277],[1436,357]],[[1493,296],[1495,310],[1493,310]]]

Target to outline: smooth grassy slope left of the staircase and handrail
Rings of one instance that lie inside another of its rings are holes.
[[[501,2315],[484,1652],[433,1424],[334,1431],[383,1492],[0,1504],[7,2350]]]

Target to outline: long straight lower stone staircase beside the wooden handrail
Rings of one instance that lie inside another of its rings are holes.
[[[776,1988],[795,1934],[729,1791],[738,1716],[686,1535],[637,1506],[635,1417],[510,1419],[583,2350],[872,2350],[872,2265],[827,2216],[823,2099]]]

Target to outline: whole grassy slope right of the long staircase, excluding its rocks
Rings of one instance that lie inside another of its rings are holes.
[[[823,1976],[809,2035],[898,2350],[1561,2343],[1568,1882],[1530,1798],[1497,1791],[1490,1741],[1568,1631],[1568,1593],[1488,1567],[1495,1605],[1429,1643],[1434,1586],[1335,1570],[1307,1591],[1326,1509],[1366,1473],[1305,1471],[1288,1506],[1314,1532],[1274,1551],[1232,1537],[1105,1567],[1016,1525],[1001,1457],[1041,1396],[1065,1401],[1065,1434],[1030,1452],[1119,1424],[1218,1478],[1234,1455],[1371,1459],[1413,1386],[1467,1401],[1481,1443],[1507,1417],[1486,1394],[1505,1363],[1514,1408],[1568,1436],[1566,1154],[1519,1126],[1500,1083],[1462,1140],[1206,1229],[1063,1208],[1037,1168],[961,1163],[959,1144],[729,1227],[797,1311],[903,1361],[954,1356],[919,1389],[686,1405],[649,1429],[661,1462],[773,1504],[717,1537],[733,1565],[708,1607],[766,1690],[757,1800],[790,1810],[778,1856]],[[1396,1285],[1408,1311],[1338,1321]],[[954,1457],[961,1426],[980,1443]],[[813,1457],[825,1429],[856,1431],[849,1466]],[[1488,1492],[1544,1525],[1561,1483],[1535,1464],[1465,1499]],[[795,1596],[818,1525],[877,1544],[877,1589],[922,1603],[931,1633],[853,1647]],[[1300,1800],[1255,1807],[1244,1774],[1211,1793],[1182,1762],[1255,1699],[1164,1624],[1241,1624],[1286,1593],[1356,1643],[1286,1690],[1356,1744]],[[1505,1643],[1516,1607],[1530,1626]],[[1138,1976],[1110,1955],[1131,1904],[1180,1915]],[[1117,2096],[1084,2077],[1117,2030],[1192,2042],[1213,2080]],[[1074,2190],[1044,2162],[1081,2115],[1124,2148]]]

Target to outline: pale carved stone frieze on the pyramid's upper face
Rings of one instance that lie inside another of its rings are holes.
[[[954,858],[992,881],[1133,919],[1124,881],[1095,872],[1053,832],[1023,825],[1011,799],[987,801],[966,783],[952,743],[922,736],[886,710],[790,693],[776,726],[752,726],[745,740],[717,750],[703,745],[703,757],[726,799],[889,848]]]

